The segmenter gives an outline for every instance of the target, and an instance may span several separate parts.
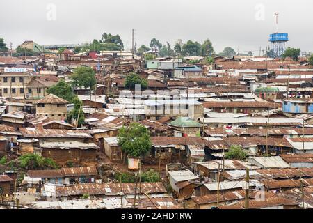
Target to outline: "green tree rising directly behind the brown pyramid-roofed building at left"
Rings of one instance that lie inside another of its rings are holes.
[[[70,86],[70,84],[67,84],[63,79],[60,79],[57,84],[49,87],[49,89],[47,89],[47,93],[54,94],[69,102],[71,102],[73,98],[75,98],[72,86]]]

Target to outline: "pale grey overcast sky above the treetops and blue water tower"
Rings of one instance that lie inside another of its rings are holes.
[[[278,12],[287,45],[313,52],[312,8],[312,0],[1,0],[0,38],[15,48],[24,40],[80,44],[118,33],[129,49],[134,28],[137,48],[154,37],[171,45],[209,38],[216,52],[240,45],[258,55]]]

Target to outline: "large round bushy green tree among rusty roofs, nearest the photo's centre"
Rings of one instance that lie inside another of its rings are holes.
[[[142,157],[152,147],[150,132],[139,123],[131,123],[128,128],[122,127],[118,131],[118,144],[130,157]]]

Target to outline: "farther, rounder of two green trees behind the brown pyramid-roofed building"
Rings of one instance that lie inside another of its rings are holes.
[[[74,74],[70,76],[72,86],[85,89],[93,89],[97,82],[95,78],[95,71],[90,67],[79,67],[74,70]]]

